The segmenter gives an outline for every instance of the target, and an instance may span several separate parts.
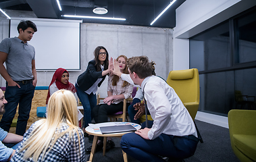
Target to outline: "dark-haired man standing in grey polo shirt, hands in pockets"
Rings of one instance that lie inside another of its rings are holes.
[[[5,99],[8,101],[0,127],[9,132],[19,104],[16,134],[23,136],[26,132],[37,82],[35,51],[28,41],[31,40],[37,28],[33,22],[22,20],[17,29],[18,37],[5,38],[0,43],[0,74],[6,80]],[[4,62],[6,69],[3,65]]]

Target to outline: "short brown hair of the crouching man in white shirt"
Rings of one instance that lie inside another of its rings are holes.
[[[152,62],[149,62],[147,56],[138,56],[131,57],[127,61],[128,68],[130,72],[135,72],[138,75],[138,78],[144,79],[148,76],[152,76],[154,65]]]

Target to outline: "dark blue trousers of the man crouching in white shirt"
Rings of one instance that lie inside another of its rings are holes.
[[[149,121],[149,125],[153,121]],[[149,127],[150,128],[150,127]],[[121,139],[122,150],[138,161],[165,161],[162,157],[185,159],[194,155],[199,139],[190,136],[161,134],[154,140],[145,140],[138,134],[124,134]]]

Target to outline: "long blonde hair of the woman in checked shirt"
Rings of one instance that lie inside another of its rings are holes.
[[[66,133],[69,133],[70,138],[72,136],[74,138],[75,132],[78,134],[80,149],[80,136],[82,134],[78,132],[78,111],[76,107],[76,99],[70,90],[61,89],[54,92],[47,106],[47,119],[41,119],[34,124],[30,137],[20,149],[20,152],[27,149],[23,158],[32,157],[34,161],[37,161],[43,153],[43,159],[51,151],[57,139]],[[60,132],[62,123],[68,124],[68,129]]]

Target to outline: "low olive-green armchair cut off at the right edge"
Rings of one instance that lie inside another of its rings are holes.
[[[230,141],[240,161],[256,161],[256,111],[232,109],[228,112]]]

